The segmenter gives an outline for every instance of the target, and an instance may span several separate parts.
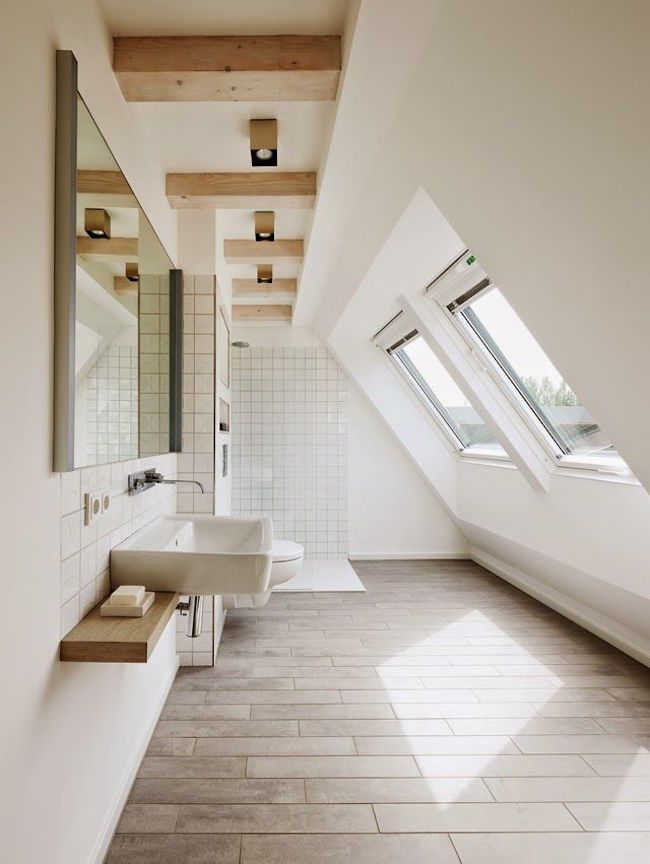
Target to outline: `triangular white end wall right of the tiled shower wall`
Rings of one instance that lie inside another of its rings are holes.
[[[349,390],[350,556],[461,557],[467,543],[361,391]]]

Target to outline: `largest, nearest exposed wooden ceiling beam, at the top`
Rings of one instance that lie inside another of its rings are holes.
[[[116,37],[113,70],[127,102],[332,100],[341,37]]]

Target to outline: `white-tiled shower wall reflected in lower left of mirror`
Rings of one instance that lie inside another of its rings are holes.
[[[138,453],[137,346],[109,345],[81,387],[86,413],[84,462],[133,459]]]

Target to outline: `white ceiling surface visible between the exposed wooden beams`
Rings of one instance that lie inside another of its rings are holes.
[[[113,35],[342,34],[351,0],[99,0]],[[278,166],[260,171],[318,171],[334,123],[334,102],[180,102],[133,104],[150,136],[152,157],[165,173],[250,171],[248,121],[278,121]],[[217,214],[219,234],[253,238],[252,211]],[[277,239],[307,239],[310,210],[276,212]],[[220,258],[221,250],[217,250]],[[276,264],[276,278],[299,277],[301,263]],[[252,278],[252,265],[217,261],[220,280]],[[228,292],[226,292],[228,293]]]

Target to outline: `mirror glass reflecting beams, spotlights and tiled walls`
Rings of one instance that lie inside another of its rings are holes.
[[[77,99],[74,465],[169,451],[172,263]]]

